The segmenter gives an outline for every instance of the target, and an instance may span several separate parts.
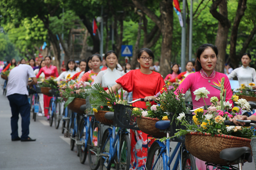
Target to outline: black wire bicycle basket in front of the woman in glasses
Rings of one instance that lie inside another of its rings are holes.
[[[132,115],[132,109],[134,107],[116,104],[114,108],[114,126],[140,130],[137,126],[136,116]]]

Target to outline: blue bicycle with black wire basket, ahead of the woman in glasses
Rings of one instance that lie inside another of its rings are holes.
[[[144,101],[144,98],[128,102],[128,104],[137,101]],[[108,128],[105,130],[102,137],[99,154],[100,170],[110,170],[111,163],[115,163],[117,170],[129,170],[131,144],[128,136],[129,132],[126,129],[139,130],[136,126],[136,118],[131,116],[132,108],[132,106],[116,104],[114,112],[105,113],[105,118],[113,119],[114,124],[112,129]]]

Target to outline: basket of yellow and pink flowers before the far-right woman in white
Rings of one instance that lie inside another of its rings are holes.
[[[247,101],[256,101],[256,94],[252,92],[252,86],[255,86],[254,83],[250,83],[249,86],[245,86],[241,84],[241,87],[236,89],[236,95],[240,96],[240,98],[246,99]]]

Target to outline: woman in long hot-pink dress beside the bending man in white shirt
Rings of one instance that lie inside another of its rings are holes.
[[[58,77],[59,73],[58,73],[57,67],[51,65],[51,62],[52,62],[51,57],[46,56],[44,58],[44,61],[45,61],[46,66],[42,67],[39,70],[38,74],[36,75],[36,78],[39,78],[39,76],[42,72],[44,73],[45,78],[48,78],[50,76]],[[44,116],[47,116],[47,119],[49,119],[49,115],[48,115],[48,109],[46,109],[45,107],[49,107],[51,98],[52,97],[44,95]]]

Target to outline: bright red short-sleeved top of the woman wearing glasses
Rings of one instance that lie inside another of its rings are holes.
[[[161,74],[154,71],[151,74],[143,74],[140,69],[130,70],[116,82],[121,84],[127,92],[132,92],[134,100],[154,96],[165,86]],[[132,106],[146,109],[146,102],[135,102]]]

